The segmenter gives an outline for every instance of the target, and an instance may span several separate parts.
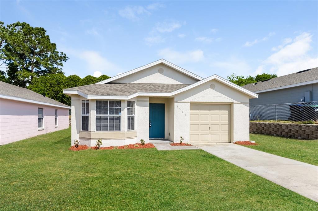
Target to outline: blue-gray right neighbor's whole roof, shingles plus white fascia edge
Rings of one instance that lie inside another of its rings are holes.
[[[297,73],[283,75],[270,80],[247,84],[244,85],[243,88],[255,93],[261,93],[314,83],[318,83],[318,67],[302,70]]]

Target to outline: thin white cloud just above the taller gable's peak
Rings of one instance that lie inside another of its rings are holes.
[[[203,61],[204,59],[204,53],[200,49],[181,52],[181,51],[172,50],[170,48],[164,48],[158,51],[158,56],[175,63],[198,62],[198,61]]]

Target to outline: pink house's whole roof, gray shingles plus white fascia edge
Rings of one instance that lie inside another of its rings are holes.
[[[8,84],[3,81],[0,81],[0,98],[36,103],[41,105],[50,105],[62,108],[71,108],[68,105],[60,103],[51,98],[44,97],[43,95],[33,92],[29,89]]]

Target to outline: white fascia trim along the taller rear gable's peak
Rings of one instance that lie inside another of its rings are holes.
[[[122,73],[122,74],[116,75],[116,76],[114,76],[112,78],[109,78],[109,79],[106,79],[106,80],[102,80],[100,82],[97,82],[96,84],[106,84],[106,83],[109,83],[111,81],[118,80],[118,79],[123,78],[125,76],[137,73],[139,71],[142,71],[144,69],[147,69],[149,67],[152,67],[152,66],[155,66],[155,65],[161,64],[161,63],[164,64],[164,65],[167,65],[168,67],[171,67],[172,69],[175,69],[175,70],[177,70],[177,71],[179,71],[179,72],[181,72],[181,73],[183,73],[185,75],[188,75],[188,76],[190,76],[190,77],[192,77],[194,79],[197,79],[197,80],[202,80],[203,79],[202,77],[200,77],[200,76],[198,76],[198,75],[196,75],[194,73],[191,73],[191,72],[189,72],[189,71],[187,71],[187,70],[185,70],[185,69],[183,69],[181,67],[178,67],[178,66],[176,66],[175,64],[172,64],[169,61],[166,61],[164,59],[159,59],[157,61],[154,61],[154,62],[151,62],[149,64],[146,64],[146,65],[144,65],[142,67],[138,67],[136,69],[130,70],[130,71],[126,72],[126,73]]]

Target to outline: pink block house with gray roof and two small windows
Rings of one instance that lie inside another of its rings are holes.
[[[0,145],[68,128],[70,108],[0,81]]]

